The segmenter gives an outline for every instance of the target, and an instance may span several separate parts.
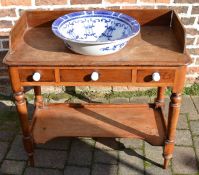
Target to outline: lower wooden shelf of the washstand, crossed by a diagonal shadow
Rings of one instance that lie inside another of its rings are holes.
[[[161,108],[152,104],[50,104],[36,108],[35,143],[55,137],[132,137],[163,145],[166,125]]]

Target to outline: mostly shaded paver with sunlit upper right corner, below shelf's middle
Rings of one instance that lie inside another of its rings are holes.
[[[116,165],[118,159],[118,151],[95,150],[94,162]]]

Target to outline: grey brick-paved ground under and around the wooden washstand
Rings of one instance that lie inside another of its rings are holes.
[[[152,99],[147,97],[111,99],[111,103],[150,101]],[[168,101],[167,98],[166,106]],[[0,100],[0,175],[199,174],[199,97],[197,96],[183,97],[175,151],[167,170],[161,167],[162,147],[125,138],[54,139],[46,144],[36,145],[35,167],[30,167],[23,149],[22,135],[13,105],[8,99]]]

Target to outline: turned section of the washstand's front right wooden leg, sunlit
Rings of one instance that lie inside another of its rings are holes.
[[[170,99],[171,101],[169,104],[167,137],[166,137],[164,153],[163,153],[164,169],[168,167],[169,160],[172,158],[172,155],[173,155],[176,126],[177,126],[178,117],[180,113],[181,94],[172,93]]]

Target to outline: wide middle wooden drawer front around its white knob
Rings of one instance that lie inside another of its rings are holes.
[[[131,69],[61,69],[61,82],[92,82],[92,74],[98,74],[95,82],[131,82]],[[94,81],[93,81],[94,82]]]

